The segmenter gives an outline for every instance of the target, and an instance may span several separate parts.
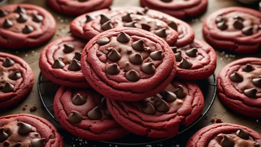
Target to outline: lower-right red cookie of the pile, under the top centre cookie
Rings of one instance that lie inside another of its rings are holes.
[[[204,98],[196,83],[173,80],[160,94],[138,102],[107,99],[114,119],[138,135],[167,138],[189,126],[203,110]]]

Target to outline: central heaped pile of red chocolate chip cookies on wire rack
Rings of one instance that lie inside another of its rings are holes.
[[[216,52],[186,22],[148,8],[103,9],[75,18],[72,35],[48,44],[39,67],[62,85],[54,100],[60,125],[90,140],[129,132],[178,134],[203,110],[193,81],[211,76]]]

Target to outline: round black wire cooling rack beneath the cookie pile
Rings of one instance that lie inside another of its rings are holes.
[[[190,129],[192,126],[194,126],[197,122],[199,122],[207,113],[208,110],[210,110],[211,106],[214,103],[216,93],[217,93],[217,80],[215,74],[213,74],[211,77],[197,81],[197,84],[199,85],[203,95],[204,95],[204,108],[199,116],[199,118],[190,126],[180,126],[179,128],[179,134],[184,133],[188,129]],[[60,85],[55,84],[45,77],[42,76],[42,74],[39,74],[38,78],[38,93],[39,97],[41,99],[41,102],[48,112],[48,114],[57,122],[54,111],[53,111],[53,102],[55,98],[55,94],[58,91]],[[57,122],[58,123],[58,122]],[[60,127],[61,128],[61,127]],[[146,136],[138,136],[135,134],[129,134],[121,139],[117,140],[111,140],[111,141],[90,141],[90,140],[84,140],[79,137],[73,136],[63,130],[62,128],[59,129],[59,132],[64,137],[65,147],[81,147],[81,146],[108,146],[108,147],[120,147],[120,146],[147,146],[151,147],[150,144],[156,144],[156,146],[165,146],[162,145],[163,141],[167,142],[166,146],[176,146],[171,145],[173,144],[173,139],[175,139],[176,136],[165,138],[165,139],[155,139],[155,138],[149,138]],[[178,135],[179,135],[178,134]],[[178,136],[177,135],[177,136]],[[172,139],[171,139],[172,138]],[[88,144],[88,145],[86,145]]]

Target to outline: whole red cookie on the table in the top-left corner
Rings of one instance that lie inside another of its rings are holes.
[[[0,8],[0,47],[37,47],[50,40],[55,31],[54,17],[41,7],[19,4]]]

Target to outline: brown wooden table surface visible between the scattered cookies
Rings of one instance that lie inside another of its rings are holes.
[[[69,32],[69,24],[73,20],[73,17],[67,17],[61,14],[56,13],[52,9],[46,6],[44,0],[28,0],[28,1],[22,1],[22,0],[9,0],[8,2],[4,3],[3,5],[7,4],[17,4],[17,3],[28,3],[28,4],[34,4],[41,6],[47,11],[49,11],[55,19],[57,20],[57,32],[53,39],[51,39],[48,43],[51,41],[54,41],[61,36],[65,36]],[[124,6],[139,6],[139,0],[129,0],[129,1],[122,1],[122,0],[114,0],[113,6],[112,7],[124,7]],[[194,29],[195,35],[197,38],[203,39],[202,36],[202,22],[203,20],[210,15],[212,12],[220,9],[220,8],[225,8],[225,7],[231,7],[231,6],[244,6],[239,4],[236,0],[208,0],[208,8],[207,11],[200,17],[187,21]],[[258,6],[251,6],[253,9],[258,9]],[[39,61],[39,56],[41,53],[41,50],[43,49],[45,45],[39,47],[39,48],[34,48],[32,50],[28,51],[9,51],[9,50],[4,50],[0,48],[0,51],[2,52],[8,52],[14,55],[17,55],[23,60],[25,60],[33,69],[34,72],[34,77],[35,77],[35,82],[34,82],[34,87],[29,95],[29,97],[24,100],[20,105],[18,105],[16,108],[7,110],[7,111],[0,111],[0,116],[4,115],[9,115],[9,114],[18,114],[19,112],[21,113],[31,113],[34,115],[41,116],[49,121],[51,121],[49,115],[45,111],[45,109],[42,107],[42,104],[40,102],[40,98],[38,96],[38,90],[37,90],[37,79],[38,75],[40,72],[40,69],[38,67],[38,61]],[[216,75],[219,73],[219,71],[228,63],[237,60],[238,58],[242,57],[247,57],[244,55],[232,55],[232,54],[226,54],[224,52],[218,51],[217,52],[217,69],[216,69]],[[255,54],[251,56],[258,56],[261,57],[260,54]],[[27,104],[27,110],[22,111],[22,107]],[[31,106],[36,106],[37,111],[36,112],[30,112],[29,108]],[[169,144],[170,146],[176,146],[179,144],[179,146],[186,146],[186,143],[188,139],[199,129],[203,128],[204,126],[211,125],[213,124],[211,122],[212,118],[220,117],[223,123],[233,123],[233,124],[239,124],[243,125],[246,127],[249,127],[259,133],[261,133],[261,120],[256,120],[256,119],[251,119],[247,117],[243,117],[240,114],[234,113],[230,111],[229,109],[225,108],[219,101],[218,97],[216,97],[215,102],[206,114],[205,119],[202,119],[200,122],[198,122],[195,126],[193,126],[190,130],[187,132],[179,135],[177,138],[175,138],[175,141],[173,144]],[[159,146],[161,144],[155,144],[154,146]],[[168,145],[168,146],[169,146]],[[87,145],[88,146],[88,145]],[[152,145],[153,146],[153,145]]]

